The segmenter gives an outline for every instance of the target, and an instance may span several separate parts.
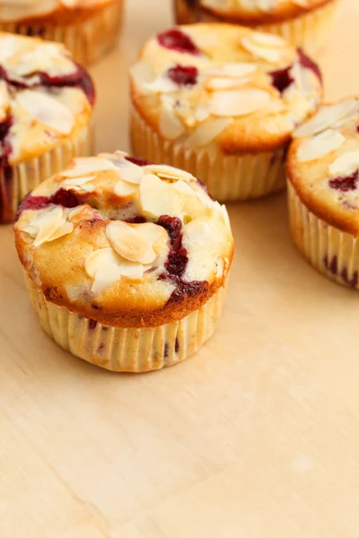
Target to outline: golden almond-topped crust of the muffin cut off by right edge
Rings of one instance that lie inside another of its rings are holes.
[[[294,132],[286,163],[287,178],[311,213],[355,237],[359,235],[358,126],[357,96],[323,105]]]

